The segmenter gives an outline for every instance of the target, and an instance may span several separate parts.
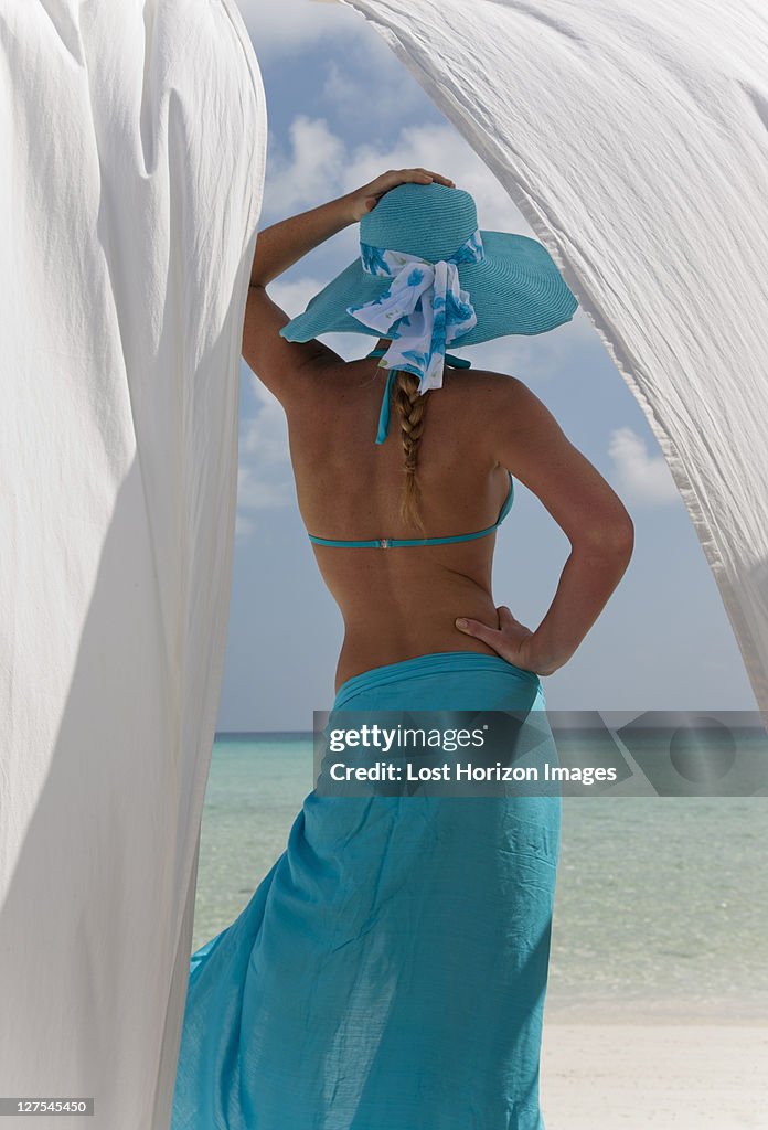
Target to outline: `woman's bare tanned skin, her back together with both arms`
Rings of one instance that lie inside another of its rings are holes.
[[[424,171],[417,171],[418,175]],[[386,174],[384,180],[401,173]],[[376,182],[373,182],[376,183]],[[313,338],[282,337],[290,321],[265,281],[349,223],[347,198],[260,233],[243,323],[243,356],[288,418],[298,502],[314,537],[368,540],[451,537],[494,525],[508,475],[542,503],[570,542],[552,603],[535,632],[491,594],[496,534],[454,545],[315,546],[344,620],[337,687],[375,667],[440,651],[522,655],[549,673],[567,662],[631,556],[634,527],[621,499],[570,443],[547,406],[514,376],[446,366],[426,394],[417,478],[424,530],[400,518],[404,452],[392,412],[375,443],[386,372],[374,357],[344,362]],[[354,201],[355,202],[355,198]],[[364,194],[356,209],[369,210]],[[356,218],[359,218],[356,211]],[[286,232],[290,238],[286,245]],[[386,340],[386,339],[383,339]],[[514,525],[514,508],[509,519]],[[465,618],[466,631],[455,621]],[[499,631],[496,631],[496,629]],[[487,642],[486,642],[487,641]]]

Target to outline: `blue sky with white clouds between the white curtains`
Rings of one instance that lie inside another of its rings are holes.
[[[268,159],[259,227],[424,166],[472,193],[481,229],[535,237],[491,172],[376,32],[350,8],[239,0],[267,93]],[[268,287],[290,315],[359,252],[357,225]],[[326,334],[352,359],[370,340]],[[549,710],[754,710],[743,661],[688,512],[645,416],[579,308],[535,337],[456,348],[514,374],[631,514],[629,568],[570,661],[542,677]],[[497,534],[494,596],[534,629],[557,589],[568,541],[516,484]],[[309,730],[333,701],[342,624],[296,506],[285,417],[241,366],[235,563],[218,731]]]

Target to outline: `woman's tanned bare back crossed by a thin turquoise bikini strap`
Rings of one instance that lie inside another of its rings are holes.
[[[442,537],[491,525],[508,490],[489,442],[499,374],[446,365],[428,393],[419,446],[424,531],[399,514],[403,450],[396,412],[375,444],[386,373],[375,358],[307,373],[287,410],[298,503],[309,533],[359,539]],[[513,510],[514,513],[514,510]],[[495,652],[455,627],[456,616],[497,621],[494,533],[473,541],[390,549],[314,546],[343,620],[337,688],[354,675],[439,651]]]

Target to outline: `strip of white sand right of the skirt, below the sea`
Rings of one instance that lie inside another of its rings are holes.
[[[547,1130],[768,1130],[768,1026],[544,1020]]]

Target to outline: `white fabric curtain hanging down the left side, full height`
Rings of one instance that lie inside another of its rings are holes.
[[[0,32],[0,1095],[166,1130],[263,88],[233,0],[9,0]]]

